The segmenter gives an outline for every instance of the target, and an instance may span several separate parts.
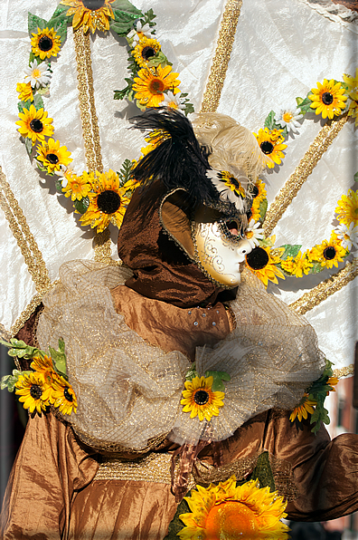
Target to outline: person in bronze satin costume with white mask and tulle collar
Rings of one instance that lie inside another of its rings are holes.
[[[325,369],[316,333],[241,272],[256,140],[214,114],[192,127],[149,112],[137,127],[156,146],[134,169],[123,265],[66,263],[43,301],[36,337],[64,340],[77,410],[29,420],[4,538],[159,540],[190,487],[244,480],[264,452],[288,518],[357,510],[358,436],[289,420]]]

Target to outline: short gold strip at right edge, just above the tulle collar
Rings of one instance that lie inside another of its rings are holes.
[[[303,294],[301,298],[298,298],[293,304],[289,304],[288,307],[300,315],[304,315],[316,305],[321,304],[328,296],[340,291],[344,285],[353,281],[354,277],[358,275],[357,265],[356,259],[352,263],[347,263],[342,270],[325,279],[308,293]]]

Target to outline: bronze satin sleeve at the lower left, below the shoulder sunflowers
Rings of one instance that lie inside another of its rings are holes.
[[[67,538],[73,492],[86,487],[98,467],[94,451],[51,413],[29,419],[5,492],[0,537]]]

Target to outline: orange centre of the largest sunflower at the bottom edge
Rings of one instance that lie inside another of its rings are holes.
[[[205,523],[207,538],[247,540],[259,533],[256,515],[238,501],[226,501],[210,510]]]

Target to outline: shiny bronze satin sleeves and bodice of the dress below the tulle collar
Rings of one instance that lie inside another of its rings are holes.
[[[315,436],[288,416],[269,410],[250,419],[220,443],[221,465],[267,449],[292,466],[298,498],[287,505],[288,518],[323,521],[358,510],[358,435],[330,441],[324,427]],[[212,464],[212,455],[208,446],[199,458]],[[95,458],[52,414],[30,419],[6,490],[1,538],[162,540],[176,508],[170,487],[92,481]]]

